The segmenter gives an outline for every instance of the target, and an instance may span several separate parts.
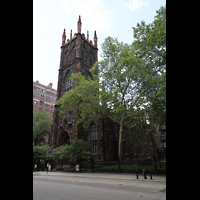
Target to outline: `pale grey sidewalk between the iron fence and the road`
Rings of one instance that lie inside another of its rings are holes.
[[[106,173],[106,172],[61,172],[61,171],[37,171],[33,172],[33,175],[37,176],[62,176],[62,177],[81,177],[81,178],[99,178],[99,179],[116,179],[116,180],[130,180],[130,181],[148,181],[148,182],[162,182],[166,183],[166,175],[152,175],[152,180],[150,179],[150,175],[147,174],[147,179],[144,179],[142,174],[138,174],[138,178],[136,178],[136,174],[132,173]]]

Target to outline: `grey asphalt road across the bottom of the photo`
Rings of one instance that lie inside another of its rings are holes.
[[[33,176],[33,200],[164,200],[166,183]]]

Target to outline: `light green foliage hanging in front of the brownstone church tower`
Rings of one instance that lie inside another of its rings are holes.
[[[91,73],[93,79],[88,77],[88,80],[81,72],[72,74],[70,79],[75,88],[65,92],[56,102],[60,116],[68,116],[70,112],[73,112],[74,117],[77,118],[77,125],[84,122],[85,128],[94,120],[94,112],[99,110],[98,76],[94,70],[91,70]]]

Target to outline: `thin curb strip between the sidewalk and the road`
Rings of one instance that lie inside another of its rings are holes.
[[[116,177],[91,177],[91,176],[73,176],[73,175],[56,175],[56,174],[40,174],[35,173],[33,175],[36,176],[61,176],[61,177],[78,177],[78,178],[94,178],[94,179],[114,179],[114,180],[127,180],[127,181],[143,181],[143,182],[160,182],[160,183],[166,183],[166,181],[160,181],[160,180],[142,180],[142,179],[126,179],[126,178],[116,178]]]

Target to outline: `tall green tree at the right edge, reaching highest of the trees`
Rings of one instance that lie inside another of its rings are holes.
[[[166,6],[156,11],[154,21],[133,27],[132,46],[141,64],[135,68],[138,95],[146,98],[145,109],[152,125],[166,119]]]

